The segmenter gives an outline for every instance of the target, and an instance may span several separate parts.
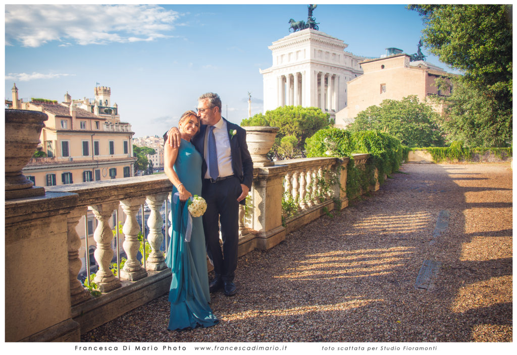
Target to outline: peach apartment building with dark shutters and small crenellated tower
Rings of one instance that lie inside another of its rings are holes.
[[[93,101],[74,101],[67,93],[61,103],[24,103],[18,99],[15,85],[12,108],[41,111],[49,117],[38,148],[46,157],[31,159],[23,174],[36,186],[133,176],[134,132],[129,123],[120,122],[118,107],[110,106],[109,95],[110,88],[96,87]]]

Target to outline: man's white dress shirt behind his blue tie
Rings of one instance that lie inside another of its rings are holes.
[[[214,137],[216,138],[217,149],[217,165],[219,168],[219,177],[233,175],[232,169],[232,150],[230,148],[230,137],[226,128],[226,122],[221,118],[219,122],[214,124]],[[205,131],[205,161],[208,163],[208,133],[210,126]],[[205,179],[210,179],[210,167],[206,169]]]

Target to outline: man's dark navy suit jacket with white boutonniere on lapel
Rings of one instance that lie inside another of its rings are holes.
[[[230,139],[233,173],[239,178],[241,184],[244,184],[251,189],[251,183],[253,182],[253,162],[251,160],[250,152],[248,151],[248,144],[246,143],[246,130],[224,118],[222,119],[226,122],[228,138]],[[206,127],[207,125],[202,124],[199,133],[192,138],[192,144],[194,144],[194,147],[203,157],[203,165],[201,167],[201,176],[203,177],[205,176],[207,169],[204,157]],[[233,130],[236,130],[237,134],[232,137],[230,132]],[[241,201],[241,203],[243,203],[243,201]]]

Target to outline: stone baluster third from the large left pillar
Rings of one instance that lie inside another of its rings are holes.
[[[132,198],[120,201],[120,205],[126,214],[126,221],[122,227],[122,232],[125,235],[122,247],[127,255],[127,261],[124,268],[120,270],[120,278],[124,280],[136,281],[147,276],[147,271],[142,267],[142,264],[136,259],[136,254],[140,247],[138,240],[138,233],[141,228],[136,220],[140,206],[144,204],[145,198]]]

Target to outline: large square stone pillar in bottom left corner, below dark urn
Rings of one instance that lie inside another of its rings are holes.
[[[80,342],[72,319],[68,213],[78,195],[5,201],[5,342]]]

